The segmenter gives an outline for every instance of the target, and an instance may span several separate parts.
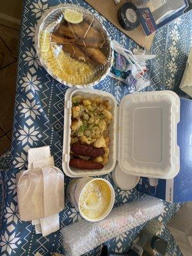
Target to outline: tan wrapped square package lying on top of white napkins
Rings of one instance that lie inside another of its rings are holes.
[[[64,175],[59,168],[22,171],[16,179],[20,220],[45,218],[64,209]]]

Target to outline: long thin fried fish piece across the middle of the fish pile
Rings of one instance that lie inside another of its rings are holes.
[[[52,34],[51,40],[57,44],[77,44],[80,46],[93,48],[99,48],[101,46],[101,44],[98,44],[97,42],[88,42],[83,38],[66,38],[58,34]]]

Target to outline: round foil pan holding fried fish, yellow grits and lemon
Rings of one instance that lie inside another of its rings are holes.
[[[80,16],[79,20],[68,21],[68,16],[75,19],[74,14]],[[95,15],[74,4],[60,4],[42,16],[35,45],[47,72],[68,86],[99,83],[113,62],[106,29]]]

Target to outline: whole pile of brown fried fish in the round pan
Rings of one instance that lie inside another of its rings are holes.
[[[62,44],[63,51],[70,54],[71,58],[88,61],[93,66],[104,65],[107,62],[106,56],[98,49],[104,45],[104,35],[88,22],[65,22],[54,31],[51,40],[56,44]]]

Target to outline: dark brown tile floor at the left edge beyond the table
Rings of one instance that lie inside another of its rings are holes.
[[[0,155],[12,141],[19,31],[0,24]]]

